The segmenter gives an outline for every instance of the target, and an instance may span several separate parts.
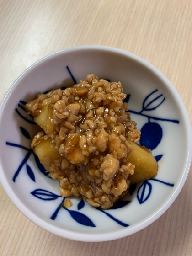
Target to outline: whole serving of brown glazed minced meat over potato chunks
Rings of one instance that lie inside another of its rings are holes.
[[[43,129],[32,149],[49,176],[60,182],[62,197],[82,195],[102,209],[122,198],[130,183],[157,174],[148,149],[136,143],[140,131],[130,119],[120,82],[87,75],[65,90],[38,94],[25,108]]]

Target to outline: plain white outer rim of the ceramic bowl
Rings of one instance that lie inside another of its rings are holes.
[[[177,185],[175,192],[172,194],[171,198],[163,205],[155,214],[150,216],[148,219],[145,219],[144,221],[140,222],[139,224],[135,224],[133,226],[129,226],[128,228],[111,232],[111,233],[103,233],[103,234],[82,234],[79,232],[72,232],[67,231],[62,228],[56,227],[54,224],[47,223],[44,219],[37,216],[35,213],[32,213],[27,206],[25,206],[24,203],[20,201],[20,199],[15,195],[14,191],[12,190],[11,186],[9,185],[9,182],[6,180],[6,177],[3,172],[3,168],[0,162],[0,182],[2,184],[2,187],[4,188],[6,194],[11,199],[12,203],[16,206],[16,208],[19,209],[19,211],[27,217],[27,219],[31,220],[34,224],[37,224],[39,227],[55,234],[59,235],[64,238],[68,238],[71,240],[77,240],[77,241],[84,241],[84,242],[100,242],[100,241],[108,241],[108,240],[115,240],[119,238],[123,238],[128,235],[132,235],[141,229],[144,229],[149,224],[152,224],[156,219],[158,219],[165,211],[171,206],[171,204],[175,201],[176,197],[181,192],[182,187],[184,186],[184,183],[187,179],[187,175],[190,169],[191,165],[191,159],[192,159],[192,130],[191,130],[191,123],[187,114],[187,110],[184,106],[184,103],[181,100],[181,97],[179,96],[178,92],[176,91],[175,87],[171,84],[171,82],[163,75],[158,69],[156,69],[152,64],[147,62],[146,60],[136,56],[133,53],[129,53],[127,51],[112,48],[108,46],[98,46],[98,45],[85,45],[85,46],[76,46],[72,48],[66,48],[64,50],[60,50],[55,53],[51,53],[48,56],[43,57],[42,59],[38,60],[34,64],[32,64],[28,69],[26,69],[11,85],[9,90],[6,92],[3,100],[0,104],[0,118],[2,117],[2,113],[5,107],[6,102],[8,101],[9,96],[11,95],[12,91],[16,88],[17,84],[20,82],[23,77],[25,77],[32,69],[36,68],[39,64],[42,64],[43,62],[47,61],[48,59],[52,59],[53,57],[59,56],[61,53],[69,53],[74,51],[82,51],[82,50],[99,50],[109,53],[117,53],[120,55],[124,55],[128,57],[129,59],[133,59],[140,64],[143,64],[146,68],[148,68],[153,74],[155,74],[157,77],[159,77],[168,87],[172,93],[172,95],[175,97],[177,104],[180,106],[183,119],[185,120],[186,125],[186,132],[187,132],[187,160],[185,169],[183,172],[183,176],[181,177],[181,181]]]

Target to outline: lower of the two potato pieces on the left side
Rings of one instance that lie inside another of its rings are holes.
[[[58,150],[55,149],[55,144],[50,144],[49,140],[41,140],[34,151],[47,171],[49,171],[51,163],[62,158]]]

